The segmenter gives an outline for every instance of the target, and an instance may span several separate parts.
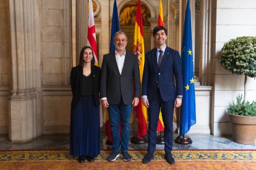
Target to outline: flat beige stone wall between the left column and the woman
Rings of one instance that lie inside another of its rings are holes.
[[[44,134],[68,133],[71,91],[71,1],[43,0]]]

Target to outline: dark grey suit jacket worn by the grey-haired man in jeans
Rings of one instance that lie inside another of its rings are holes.
[[[110,105],[119,104],[121,95],[126,105],[130,105],[134,97],[140,97],[140,70],[136,55],[126,51],[121,75],[114,52],[103,56],[101,69],[101,98],[107,97]]]

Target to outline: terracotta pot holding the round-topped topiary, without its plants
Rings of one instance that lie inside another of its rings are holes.
[[[239,144],[255,144],[256,116],[239,116],[228,113],[232,124],[234,142]]]

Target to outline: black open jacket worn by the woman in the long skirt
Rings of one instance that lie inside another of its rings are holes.
[[[95,65],[92,67],[92,83],[93,83],[93,95],[95,100],[95,105],[100,105],[99,91],[100,91],[100,77],[101,70],[99,67]],[[83,68],[80,66],[73,67],[70,73],[70,84],[72,89],[72,102],[71,105],[73,107],[77,106],[79,103],[79,98],[81,95],[81,86],[82,86],[82,78],[83,78]]]

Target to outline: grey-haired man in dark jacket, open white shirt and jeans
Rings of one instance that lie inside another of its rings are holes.
[[[127,36],[118,31],[114,35],[116,50],[103,56],[101,66],[101,100],[108,108],[113,137],[113,152],[107,160],[114,161],[121,155],[124,161],[132,160],[128,153],[130,114],[132,105],[139,103],[140,97],[140,70],[136,55],[126,51]],[[121,140],[119,122],[121,121]]]

